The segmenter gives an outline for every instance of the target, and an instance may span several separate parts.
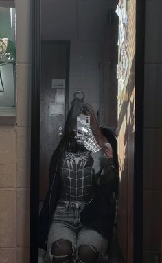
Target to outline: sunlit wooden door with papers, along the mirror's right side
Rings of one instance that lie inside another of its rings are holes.
[[[135,18],[136,1],[119,1],[118,39],[118,238],[124,259],[133,262],[133,195],[135,149]]]

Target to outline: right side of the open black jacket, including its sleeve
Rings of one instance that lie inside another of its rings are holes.
[[[107,158],[102,149],[91,153],[93,158],[93,177],[95,189],[93,199],[80,213],[82,225],[96,229],[110,239],[115,218],[115,192],[117,190],[117,171],[113,158]]]

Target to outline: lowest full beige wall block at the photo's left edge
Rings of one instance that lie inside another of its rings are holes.
[[[0,247],[16,245],[15,190],[0,189]]]

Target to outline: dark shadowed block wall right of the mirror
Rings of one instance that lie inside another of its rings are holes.
[[[162,2],[146,0],[143,263],[160,250],[162,196]]]

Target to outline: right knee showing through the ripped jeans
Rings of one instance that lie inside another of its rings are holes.
[[[81,245],[78,248],[78,260],[84,263],[95,263],[98,260],[98,251],[91,245]]]

